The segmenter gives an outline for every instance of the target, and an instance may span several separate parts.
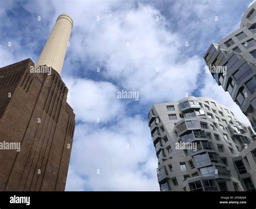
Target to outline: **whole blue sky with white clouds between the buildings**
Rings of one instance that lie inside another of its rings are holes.
[[[60,13],[73,18],[61,75],[76,114],[66,191],[159,191],[147,126],[155,103],[212,97],[250,124],[203,55],[252,2],[0,1],[0,67],[36,62]],[[138,100],[118,98],[122,90]]]

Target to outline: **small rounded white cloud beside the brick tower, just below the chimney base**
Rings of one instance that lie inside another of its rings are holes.
[[[112,83],[81,78],[64,80],[69,88],[68,102],[75,111],[76,120],[109,122],[125,114],[125,108],[117,98],[118,89]]]

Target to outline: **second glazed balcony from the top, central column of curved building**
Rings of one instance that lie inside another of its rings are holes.
[[[180,123],[176,124],[176,131],[178,136],[187,133],[190,130],[200,130],[200,122],[198,120],[183,119]]]

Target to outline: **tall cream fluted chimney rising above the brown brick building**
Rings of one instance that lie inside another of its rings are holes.
[[[61,14],[57,18],[43,51],[37,60],[37,66],[46,65],[52,67],[60,75],[72,27],[73,19],[70,15]]]

